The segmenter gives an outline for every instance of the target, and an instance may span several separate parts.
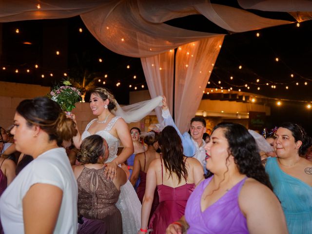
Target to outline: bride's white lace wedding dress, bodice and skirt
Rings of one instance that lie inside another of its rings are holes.
[[[104,130],[98,131],[96,134],[103,137],[108,144],[109,156],[105,162],[111,162],[117,157],[117,150],[120,144],[120,140],[109,133],[118,116],[111,119]],[[97,119],[93,119],[88,123],[85,131],[82,133],[81,138],[89,137],[91,134],[88,132],[91,124]],[[120,188],[120,195],[116,204],[122,217],[122,230],[124,234],[136,234],[141,227],[141,203],[137,197],[137,193],[134,190],[129,180]]]

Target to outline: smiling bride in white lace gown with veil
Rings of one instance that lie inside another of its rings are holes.
[[[153,110],[156,105],[161,103],[161,99],[159,98],[161,97],[154,98],[157,99],[154,103],[147,103],[148,108],[145,109],[148,109],[147,111]],[[117,166],[126,161],[134,152],[128,125],[125,120],[118,115],[123,115],[125,117],[129,116],[124,115],[124,112],[121,110],[114,96],[105,88],[96,88],[91,92],[90,107],[93,115],[98,118],[93,119],[87,125],[82,135],[78,132],[78,134],[73,137],[74,144],[79,148],[85,137],[94,134],[103,137],[107,141],[109,149],[109,157],[105,161],[105,166],[107,168],[105,170],[105,175],[114,178],[116,177],[115,172]],[[118,110],[116,111],[116,109]],[[138,108],[135,109],[137,110]],[[116,116],[113,114],[115,111],[117,113]],[[146,115],[147,114],[148,112]],[[75,120],[75,115],[72,115],[71,117]],[[133,120],[134,119],[130,118],[127,122]],[[117,150],[120,143],[123,145],[123,150],[120,155],[117,156]],[[137,230],[140,229],[141,203],[129,180],[125,185],[121,186],[119,200],[116,205],[121,212],[123,233],[137,233]]]

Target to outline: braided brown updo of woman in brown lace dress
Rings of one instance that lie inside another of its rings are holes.
[[[104,156],[104,139],[99,135],[86,137],[80,146],[77,159],[81,163],[98,163],[98,157]]]

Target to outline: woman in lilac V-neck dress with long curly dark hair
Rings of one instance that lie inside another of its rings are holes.
[[[287,234],[285,216],[254,138],[236,123],[215,126],[205,146],[207,178],[167,234]]]

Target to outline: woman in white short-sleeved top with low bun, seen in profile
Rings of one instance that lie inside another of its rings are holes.
[[[77,182],[65,149],[58,146],[76,132],[51,99],[20,102],[11,134],[17,150],[34,160],[1,196],[4,233],[77,233]]]

